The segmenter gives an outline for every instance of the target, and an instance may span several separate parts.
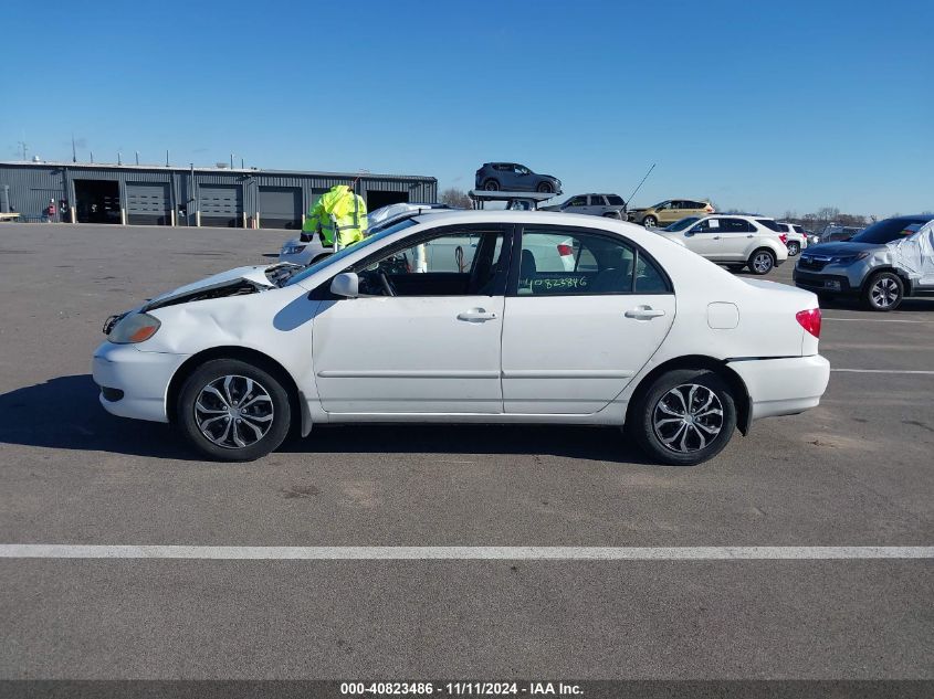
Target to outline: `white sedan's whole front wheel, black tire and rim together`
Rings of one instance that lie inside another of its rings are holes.
[[[237,359],[214,359],[196,369],[179,391],[176,414],[188,442],[222,462],[265,456],[282,444],[292,423],[280,379]]]

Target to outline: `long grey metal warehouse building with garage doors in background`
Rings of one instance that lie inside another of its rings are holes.
[[[407,174],[0,162],[0,211],[40,220],[54,201],[71,223],[300,229],[321,194],[357,177],[370,211],[438,198],[435,178]]]

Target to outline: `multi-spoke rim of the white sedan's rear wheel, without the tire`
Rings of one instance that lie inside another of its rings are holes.
[[[723,430],[723,404],[707,386],[683,383],[655,403],[652,428],[659,441],[672,452],[700,452]]]

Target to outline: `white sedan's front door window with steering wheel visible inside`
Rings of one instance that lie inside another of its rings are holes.
[[[448,231],[349,271],[359,276],[360,293],[369,296],[492,295],[505,280],[503,241],[502,231]]]

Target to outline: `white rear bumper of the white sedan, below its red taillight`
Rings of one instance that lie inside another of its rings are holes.
[[[743,359],[727,366],[746,384],[753,420],[795,415],[816,407],[830,381],[830,362],[820,354]]]

